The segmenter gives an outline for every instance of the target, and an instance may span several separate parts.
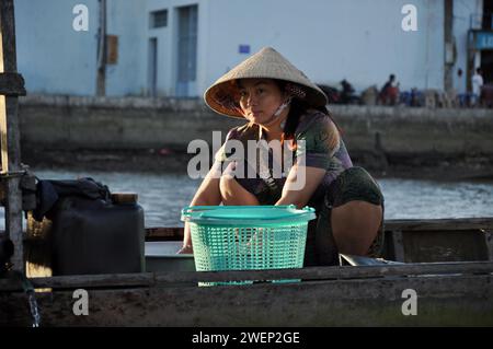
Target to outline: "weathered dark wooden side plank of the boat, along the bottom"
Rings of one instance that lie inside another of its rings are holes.
[[[42,326],[492,326],[492,275],[357,279],[251,287],[88,290],[36,294]],[[416,291],[417,314],[402,313]],[[28,326],[26,296],[0,292],[0,326]]]

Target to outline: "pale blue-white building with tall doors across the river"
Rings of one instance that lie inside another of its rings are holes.
[[[408,3],[416,9],[416,31],[402,27]],[[447,3],[455,47],[445,43]],[[88,31],[73,28],[83,20],[77,4],[88,9]],[[483,1],[106,0],[106,34],[117,37],[106,95],[193,97],[264,46],[320,84],[346,79],[360,91],[381,88],[394,73],[401,90],[444,90],[448,65],[462,90],[468,31]],[[28,93],[95,94],[99,0],[15,0],[15,20]]]

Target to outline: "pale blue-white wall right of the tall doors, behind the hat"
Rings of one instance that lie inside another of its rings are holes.
[[[202,89],[252,53],[273,46],[317,83],[347,79],[355,89],[383,85],[443,89],[444,3],[419,0],[417,32],[404,32],[401,0],[216,0],[209,7],[207,79]],[[254,25],[252,25],[254,23]]]

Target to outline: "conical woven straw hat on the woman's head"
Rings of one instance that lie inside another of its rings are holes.
[[[293,66],[272,47],[265,47],[251,56],[221,78],[204,94],[206,104],[215,112],[233,117],[243,117],[239,105],[238,79],[278,79],[293,82],[306,92],[303,97],[310,106],[325,106],[325,94],[307,75]]]

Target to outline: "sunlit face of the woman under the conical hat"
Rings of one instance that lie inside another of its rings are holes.
[[[259,125],[270,124],[285,98],[277,83],[271,79],[242,79],[239,90],[244,117]]]

